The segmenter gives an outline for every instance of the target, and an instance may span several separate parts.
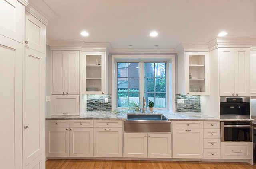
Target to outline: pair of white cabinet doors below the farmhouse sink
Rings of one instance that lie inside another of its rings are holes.
[[[172,135],[124,133],[124,157],[171,158]]]

